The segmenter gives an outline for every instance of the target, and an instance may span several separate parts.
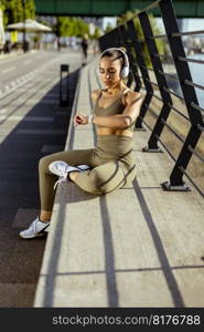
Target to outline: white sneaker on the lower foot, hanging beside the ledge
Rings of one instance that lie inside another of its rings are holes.
[[[22,239],[32,239],[36,237],[42,237],[44,234],[49,231],[50,224],[51,224],[50,221],[42,222],[39,219],[39,217],[36,217],[36,219],[31,222],[28,229],[20,231],[19,236]]]

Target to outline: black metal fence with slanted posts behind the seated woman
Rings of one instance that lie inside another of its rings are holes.
[[[158,7],[161,12],[164,34],[155,35],[151,27],[149,10],[155,7]],[[140,29],[143,33],[148,53],[143,52],[142,43],[138,37],[133,18],[103,35],[99,39],[100,50],[104,51],[111,46],[125,46],[130,60],[131,73],[127,85],[131,86],[135,84],[135,91],[140,91],[141,89],[144,89],[146,91],[146,96],[143,98],[140,114],[137,118],[135,129],[144,131],[146,128],[142,126],[144,124],[144,126],[151,131],[148,145],[142,148],[143,152],[161,153],[162,151],[158,146],[159,142],[174,160],[170,178],[161,184],[162,188],[164,190],[176,191],[191,190],[183,181],[183,176],[185,175],[196,190],[204,197],[204,191],[201,186],[202,184],[197,184],[187,172],[187,166],[192,156],[200,159],[202,167],[204,162],[204,156],[196,149],[196,145],[204,132],[204,108],[198,103],[195,92],[195,89],[204,90],[204,86],[193,82],[189,63],[204,64],[204,61],[186,56],[182,41],[184,35],[204,34],[204,30],[180,32],[171,0],[155,1],[151,6],[138,12],[136,14],[136,18],[137,17],[139,19]],[[157,46],[157,40],[159,39],[163,39],[169,44],[170,54],[168,56],[159,53]],[[151,65],[147,65],[146,58],[148,56],[151,60]],[[164,63],[167,63],[167,61],[174,64],[175,75],[164,71]],[[150,77],[152,74],[155,79],[154,82],[152,82]],[[178,81],[181,93],[170,89],[168,83],[169,79]],[[152,98],[158,100],[161,104],[161,110],[159,112],[155,112],[155,110],[151,107],[150,103],[152,102]],[[181,108],[185,107],[186,113],[174,105],[173,101],[175,100],[180,101],[180,105],[183,105]],[[180,116],[187,123],[189,127],[186,135],[181,135],[168,123],[168,118],[172,112],[176,113],[176,116]],[[155,118],[153,126],[150,126],[147,122],[148,114],[153,115]],[[176,158],[163,139],[161,139],[161,134],[164,128],[168,128],[170,133],[180,141],[181,148]],[[202,139],[204,137],[202,137]]]

